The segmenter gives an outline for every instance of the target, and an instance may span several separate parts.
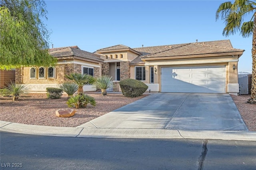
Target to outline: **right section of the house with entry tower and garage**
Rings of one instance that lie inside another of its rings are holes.
[[[118,80],[131,78],[146,83],[148,91],[236,95],[243,52],[230,40],[140,48],[115,45],[96,51],[104,59],[102,74],[114,77],[114,91],[120,91]]]

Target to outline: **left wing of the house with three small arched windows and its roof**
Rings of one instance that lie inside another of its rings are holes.
[[[70,73],[101,76],[104,62],[100,55],[81,50],[78,46],[49,49],[49,53],[58,59],[51,67],[21,67],[16,69],[16,83],[27,83],[30,92],[45,92],[46,87],[58,87],[64,81],[70,81],[64,75]],[[85,85],[84,91],[94,91],[93,85]]]

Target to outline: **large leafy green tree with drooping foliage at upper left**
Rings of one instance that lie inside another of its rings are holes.
[[[49,66],[46,4],[42,0],[0,0],[0,69]]]

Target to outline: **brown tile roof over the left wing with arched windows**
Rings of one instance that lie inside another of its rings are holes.
[[[81,57],[84,59],[100,61],[100,62],[104,61],[103,59],[100,58],[100,55],[81,50],[78,46],[52,48],[52,49],[49,49],[49,53],[53,57],[73,56],[73,57]]]

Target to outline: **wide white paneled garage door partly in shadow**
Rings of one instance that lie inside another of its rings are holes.
[[[225,93],[226,68],[224,65],[162,67],[161,91],[173,93]]]

